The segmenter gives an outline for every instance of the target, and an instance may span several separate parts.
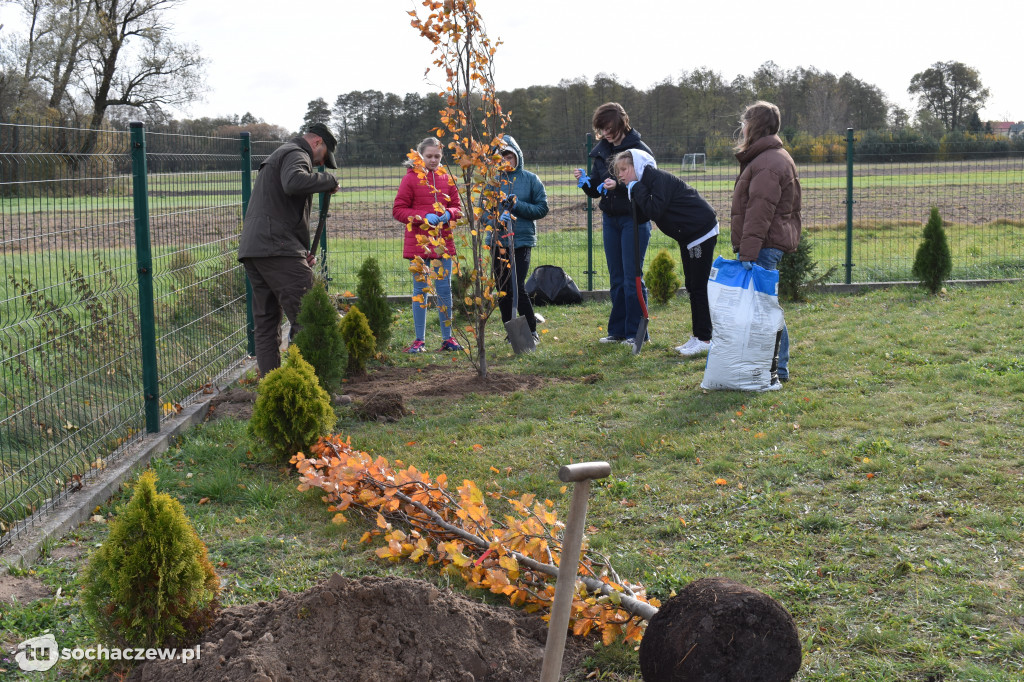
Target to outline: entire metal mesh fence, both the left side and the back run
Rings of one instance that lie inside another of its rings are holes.
[[[143,389],[140,329],[151,312],[165,413],[246,355],[245,274],[236,260],[243,145],[166,133],[145,141],[148,308],[140,305],[145,268],[136,250],[129,133],[0,124],[0,550],[146,428],[155,396]],[[581,289],[607,289],[601,214],[571,175],[586,166],[586,144],[519,141],[550,209],[538,223],[534,266],[559,265]],[[738,172],[731,142],[646,141],[660,168],[718,210],[718,252],[731,257]],[[280,143],[251,141],[253,177]],[[804,239],[818,272],[833,270],[830,282],[910,280],[933,206],[946,223],[953,279],[1024,274],[1024,154],[874,141],[854,148],[852,167],[841,138],[828,148],[794,150]],[[684,165],[684,154],[690,157]],[[355,291],[356,272],[372,256],[387,293],[408,296],[404,226],[391,217],[404,159],[371,150],[360,158],[376,161],[342,159],[335,171],[341,190],[328,222],[331,291]],[[676,243],[654,230],[650,257],[662,248],[678,258]]]

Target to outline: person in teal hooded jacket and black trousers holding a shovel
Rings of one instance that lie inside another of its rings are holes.
[[[505,295],[498,300],[498,306],[502,311],[502,322],[512,319],[512,287],[517,287],[518,313],[526,318],[534,339],[539,340],[537,315],[534,313],[529,296],[526,295],[526,273],[529,270],[530,250],[537,246],[535,221],[548,215],[548,193],[541,178],[522,167],[522,150],[519,148],[515,138],[512,135],[503,135],[502,139],[504,144],[501,154],[505,170],[498,173],[498,185],[492,189],[501,193],[504,201],[500,205],[498,223],[494,225],[494,231],[487,233],[486,240],[494,249],[493,238],[498,236],[497,241],[504,247],[497,250],[494,259],[495,281],[499,290],[505,292]],[[514,244],[510,243],[513,240]],[[509,248],[512,249],[511,255],[515,258],[515,283],[512,282]]]

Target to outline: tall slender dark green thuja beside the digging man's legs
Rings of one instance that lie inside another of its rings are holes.
[[[341,316],[322,282],[302,297],[297,322],[301,329],[295,335],[295,345],[312,366],[321,388],[330,392],[345,372],[345,341],[341,338]]]

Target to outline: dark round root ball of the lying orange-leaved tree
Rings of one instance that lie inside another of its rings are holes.
[[[724,578],[683,588],[640,641],[644,682],[785,682],[800,670],[797,624],[777,601]]]

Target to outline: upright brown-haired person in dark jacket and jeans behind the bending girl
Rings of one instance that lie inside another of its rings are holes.
[[[618,102],[609,101],[594,111],[592,120],[594,132],[600,137],[591,151],[594,160],[590,175],[577,169],[572,175],[584,193],[591,199],[600,199],[598,207],[602,213],[602,237],[604,257],[608,263],[611,313],[608,315],[608,335],[601,343],[626,343],[633,345],[640,326],[643,311],[633,284],[636,281],[635,247],[633,239],[633,211],[625,186],[615,186],[611,179],[611,157],[626,150],[643,150],[652,154],[650,147],[640,140],[640,133],[630,127],[630,117]],[[611,179],[610,186],[606,182]],[[637,215],[640,237],[640,263],[647,253],[650,241],[650,221],[644,215]],[[643,274],[642,272],[640,273]],[[627,284],[629,283],[629,286]],[[647,287],[643,285],[644,300]]]

